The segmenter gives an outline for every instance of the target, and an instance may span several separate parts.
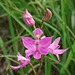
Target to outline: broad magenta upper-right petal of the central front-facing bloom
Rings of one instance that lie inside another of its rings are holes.
[[[53,36],[52,37],[45,37],[45,38],[41,39],[39,41],[40,47],[44,47],[44,48],[49,47],[51,44],[52,38],[53,38]]]

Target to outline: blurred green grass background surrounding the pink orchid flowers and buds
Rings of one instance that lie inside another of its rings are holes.
[[[69,50],[60,55],[60,62],[51,53],[45,56],[39,75],[75,75],[75,0],[0,0],[0,75],[33,75],[29,65],[13,71],[10,64],[19,64],[18,51],[25,55],[20,36],[34,38],[33,27],[23,21],[24,11],[27,9],[40,27],[46,8],[52,11],[52,18],[44,22],[44,34],[54,35],[53,40],[61,37],[61,48]],[[37,71],[39,61],[31,56],[31,63]]]

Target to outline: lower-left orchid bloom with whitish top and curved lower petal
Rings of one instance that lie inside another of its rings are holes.
[[[29,56],[26,56],[23,57],[19,52],[18,52],[18,55],[17,55],[17,58],[18,58],[18,62],[20,62],[21,64],[19,66],[12,66],[10,65],[10,67],[13,69],[13,70],[17,70],[19,69],[20,67],[26,67],[26,65],[28,63],[30,63],[30,57]]]

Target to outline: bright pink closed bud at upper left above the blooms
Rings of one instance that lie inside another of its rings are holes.
[[[23,19],[24,19],[24,22],[28,25],[28,26],[32,26],[32,25],[35,25],[35,21],[33,20],[31,14],[27,11],[24,12],[23,14]]]

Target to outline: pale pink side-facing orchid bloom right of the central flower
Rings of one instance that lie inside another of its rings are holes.
[[[67,49],[59,49],[60,48],[60,46],[58,45],[59,41],[60,41],[60,37],[55,39],[55,41],[48,47],[49,52],[56,55],[58,58],[58,61],[60,61],[59,54],[62,54],[68,50],[68,48]]]

